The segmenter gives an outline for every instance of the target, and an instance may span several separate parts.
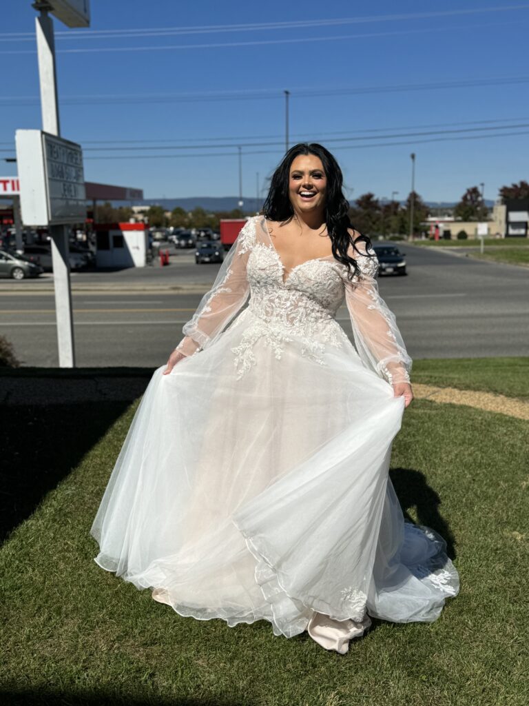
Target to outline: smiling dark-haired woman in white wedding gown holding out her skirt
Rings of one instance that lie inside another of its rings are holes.
[[[411,359],[347,211],[334,157],[291,148],[154,372],[92,526],[99,566],[178,614],[341,654],[370,617],[434,621],[458,592],[388,477]]]

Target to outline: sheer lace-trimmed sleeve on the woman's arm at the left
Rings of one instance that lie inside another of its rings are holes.
[[[252,237],[246,222],[221,265],[212,289],[202,297],[193,317],[183,326],[185,337],[176,347],[186,356],[207,348],[244,306],[250,293],[246,265]]]

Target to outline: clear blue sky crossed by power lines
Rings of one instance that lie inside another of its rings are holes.
[[[55,21],[61,132],[83,145],[89,181],[231,196],[241,145],[243,194],[255,196],[257,173],[264,193],[284,154],[284,90],[291,144],[332,150],[350,199],[405,198],[411,152],[427,201],[481,182],[496,198],[529,179],[528,3],[92,0],[91,11],[89,30]],[[41,126],[35,16],[30,0],[2,3],[0,156],[17,128]],[[16,173],[1,163],[0,176]]]

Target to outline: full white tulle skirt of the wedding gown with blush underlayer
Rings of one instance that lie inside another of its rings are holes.
[[[251,316],[154,372],[92,526],[95,561],[182,616],[264,619],[287,638],[315,613],[434,621],[458,574],[389,481],[403,397],[345,334],[320,359],[262,337],[238,376]]]

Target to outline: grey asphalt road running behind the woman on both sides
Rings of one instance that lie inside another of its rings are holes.
[[[528,270],[408,244],[401,249],[409,275],[382,277],[379,288],[411,357],[528,355]],[[192,253],[171,261],[166,268],[73,275],[78,366],[164,364],[218,271],[195,265]],[[56,366],[50,278],[0,285],[0,333],[24,365]],[[338,318],[350,333],[345,308]]]

